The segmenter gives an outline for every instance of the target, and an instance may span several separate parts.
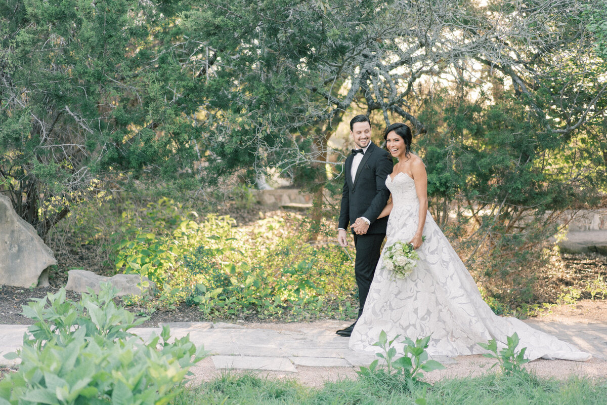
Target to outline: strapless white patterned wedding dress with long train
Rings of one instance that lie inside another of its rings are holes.
[[[399,172],[386,179],[394,206],[388,220],[388,247],[397,240],[409,242],[418,228],[419,200],[415,182]],[[486,353],[477,342],[496,339],[498,349],[505,347],[506,336],[515,332],[520,338],[518,350],[526,347],[526,358],[586,361],[581,352],[554,336],[540,332],[516,318],[501,318],[493,313],[476,287],[472,276],[451,247],[430,213],[424,225],[426,240],[417,250],[419,262],[406,279],[399,279],[382,266],[379,259],[367,302],[350,337],[350,349],[377,352],[373,343],[384,330],[388,339],[400,335],[413,339],[432,335],[429,355],[461,356]],[[396,347],[397,350],[402,349]]]

